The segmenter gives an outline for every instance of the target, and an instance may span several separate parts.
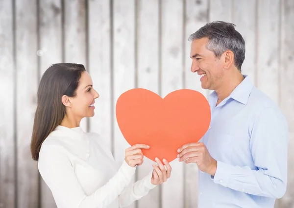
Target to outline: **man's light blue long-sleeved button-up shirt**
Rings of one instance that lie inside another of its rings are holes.
[[[273,208],[287,184],[288,123],[247,76],[216,106],[202,137],[217,160],[215,176],[199,171],[198,208]]]

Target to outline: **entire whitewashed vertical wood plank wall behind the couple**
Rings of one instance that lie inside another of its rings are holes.
[[[0,0],[0,208],[56,208],[29,152],[37,86],[50,64],[85,65],[100,98],[81,125],[101,133],[122,162],[117,98],[135,87],[207,96],[190,72],[187,38],[214,20],[237,25],[243,73],[288,118],[288,189],[275,208],[294,208],[294,0]],[[172,165],[172,178],[130,208],[197,207],[196,165]],[[146,159],[136,178],[150,168]]]

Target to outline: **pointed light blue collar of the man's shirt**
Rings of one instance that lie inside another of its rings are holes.
[[[229,95],[228,98],[226,98],[226,100],[232,98],[242,104],[247,104],[249,95],[254,86],[250,80],[250,77],[248,77],[247,75],[243,75],[243,77],[243,81],[233,90],[233,92]],[[213,91],[209,97],[210,99],[214,100],[216,99],[216,96],[216,91]]]

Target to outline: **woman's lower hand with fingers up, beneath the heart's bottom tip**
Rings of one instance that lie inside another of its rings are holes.
[[[163,159],[165,166],[157,157],[155,158],[155,161],[157,162],[158,166],[153,164],[154,170],[151,177],[151,183],[153,185],[158,185],[166,182],[171,177],[172,166],[166,159]]]

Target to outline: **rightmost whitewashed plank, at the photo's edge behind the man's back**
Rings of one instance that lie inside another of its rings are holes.
[[[281,37],[280,105],[289,126],[288,184],[281,208],[294,208],[294,1],[283,0]]]

